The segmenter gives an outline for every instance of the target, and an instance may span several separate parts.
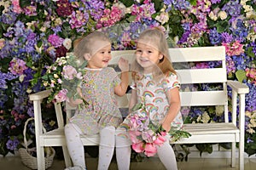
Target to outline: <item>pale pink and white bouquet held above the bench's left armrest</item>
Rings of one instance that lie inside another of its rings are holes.
[[[83,105],[88,105],[78,92],[86,64],[86,62],[80,64],[79,59],[75,59],[73,54],[67,54],[66,57],[57,58],[53,65],[47,66],[46,74],[42,79],[44,87],[52,91],[48,102],[61,103],[70,99],[82,99]]]

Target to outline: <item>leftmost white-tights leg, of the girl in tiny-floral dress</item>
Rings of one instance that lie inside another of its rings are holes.
[[[73,166],[83,167],[85,169],[84,145],[80,139],[80,134],[82,134],[82,132],[77,125],[67,123],[65,126],[65,136],[67,141],[67,150],[73,161]]]

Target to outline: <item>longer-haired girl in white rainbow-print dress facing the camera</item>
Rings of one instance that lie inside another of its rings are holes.
[[[166,37],[158,28],[143,31],[137,40],[136,60],[131,67],[131,99],[129,108],[142,103],[150,122],[166,132],[183,126],[180,110],[179,82],[172,67]],[[122,127],[130,128],[131,116],[142,110],[131,111]],[[157,155],[166,169],[177,169],[176,156],[166,135],[164,144],[157,146]]]

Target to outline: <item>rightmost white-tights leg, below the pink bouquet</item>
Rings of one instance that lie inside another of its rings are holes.
[[[177,170],[176,156],[168,137],[166,138],[166,142],[157,148],[157,155],[167,170]]]

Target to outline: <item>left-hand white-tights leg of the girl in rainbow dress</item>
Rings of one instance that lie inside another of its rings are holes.
[[[124,127],[118,127],[115,136],[116,159],[119,169],[129,170],[131,157],[131,140]]]

